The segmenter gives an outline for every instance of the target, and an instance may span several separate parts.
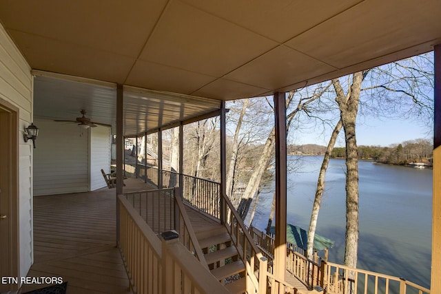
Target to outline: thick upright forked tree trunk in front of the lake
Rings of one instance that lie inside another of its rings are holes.
[[[367,74],[367,72],[366,72]],[[336,102],[340,109],[340,118],[345,130],[346,141],[346,242],[345,265],[357,267],[358,258],[358,157],[356,141],[356,118],[360,101],[361,83],[364,72],[352,76],[352,85],[345,95],[340,81],[332,80],[336,90]],[[352,273],[353,274],[353,273]],[[349,274],[350,278],[351,273]]]

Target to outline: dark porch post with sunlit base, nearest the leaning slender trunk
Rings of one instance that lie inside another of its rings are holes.
[[[274,274],[285,280],[287,255],[287,127],[285,93],[274,94],[276,139],[276,236]]]

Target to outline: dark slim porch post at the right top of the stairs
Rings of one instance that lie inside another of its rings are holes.
[[[220,197],[219,203],[219,217],[220,222],[225,223],[227,216],[227,208],[225,203],[225,198],[227,196],[227,140],[225,131],[225,101],[220,103]]]

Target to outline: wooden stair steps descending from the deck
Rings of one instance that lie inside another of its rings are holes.
[[[196,233],[211,273],[231,293],[245,292],[245,265],[227,229],[221,224]]]

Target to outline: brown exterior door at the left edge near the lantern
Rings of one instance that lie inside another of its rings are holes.
[[[0,276],[18,277],[17,112],[0,100]],[[0,292],[17,290],[0,282]]]

